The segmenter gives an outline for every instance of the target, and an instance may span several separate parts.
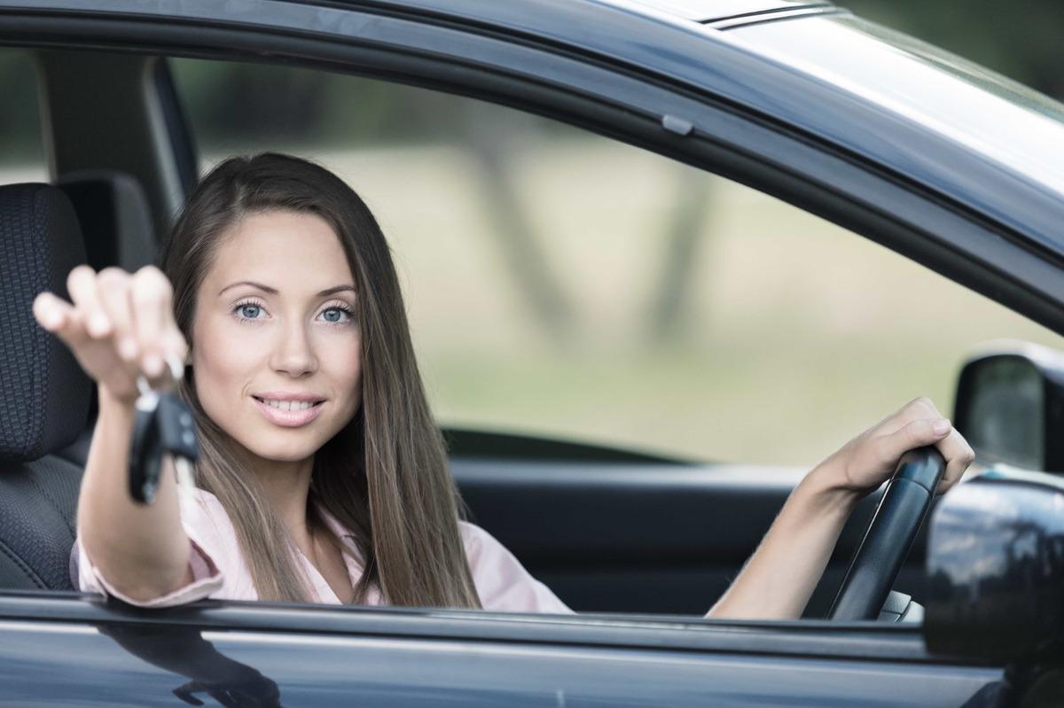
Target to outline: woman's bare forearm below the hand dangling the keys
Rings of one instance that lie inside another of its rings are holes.
[[[131,405],[100,388],[100,411],[78,500],[78,535],[94,566],[117,590],[151,600],[189,579],[189,543],[171,470],[164,469],[154,503],[137,504],[129,494],[134,415]]]

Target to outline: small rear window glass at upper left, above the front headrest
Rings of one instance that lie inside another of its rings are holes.
[[[0,48],[0,184],[48,182],[41,135],[37,73],[33,57],[20,49]]]

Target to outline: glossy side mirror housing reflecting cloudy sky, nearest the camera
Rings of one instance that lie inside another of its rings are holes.
[[[924,635],[934,653],[1064,656],[1064,482],[987,472],[931,516]]]

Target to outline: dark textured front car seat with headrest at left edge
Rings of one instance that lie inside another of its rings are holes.
[[[0,588],[70,590],[83,469],[55,455],[84,429],[92,382],[33,318],[85,263],[74,210],[45,184],[0,187]]]

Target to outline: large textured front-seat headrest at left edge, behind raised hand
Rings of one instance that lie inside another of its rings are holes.
[[[90,381],[32,311],[41,290],[68,298],[67,274],[82,263],[81,230],[62,191],[0,187],[0,459],[38,459],[85,427]]]

